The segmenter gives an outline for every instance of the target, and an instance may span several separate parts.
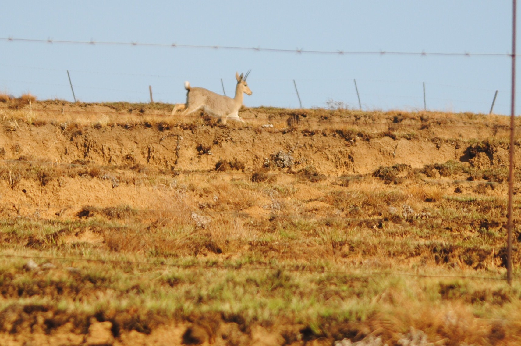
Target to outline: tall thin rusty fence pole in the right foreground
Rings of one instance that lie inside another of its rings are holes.
[[[512,6],[512,91],[510,100],[510,148],[508,164],[508,221],[507,229],[507,258],[506,258],[506,279],[512,285],[512,229],[514,228],[514,126],[515,126],[515,90],[516,90],[516,0]]]

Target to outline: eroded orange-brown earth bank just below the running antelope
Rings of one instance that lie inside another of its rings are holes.
[[[506,135],[505,125],[497,123],[503,119],[469,123],[465,115],[459,121],[452,115],[449,121],[442,115],[430,119],[428,114],[401,119],[392,114],[326,111],[328,116],[313,117],[311,111],[248,109],[242,114],[253,125],[222,126],[214,120],[129,116],[128,112],[111,114],[108,120],[103,109],[75,113],[72,120],[46,112],[36,122],[20,120],[4,126],[2,159],[168,170],[211,170],[224,160],[241,162],[245,171],[254,171],[278,153],[291,153],[294,170],[314,166],[319,174],[338,176],[367,174],[394,164],[416,168],[448,160],[467,162],[476,156],[469,152],[473,144],[469,139]],[[492,150],[482,165],[505,165],[506,145]]]

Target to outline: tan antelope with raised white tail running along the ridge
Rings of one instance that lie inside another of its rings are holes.
[[[219,117],[221,122],[225,125],[228,118],[244,122],[239,116],[239,109],[242,106],[243,93],[246,95],[252,94],[252,91],[248,88],[248,84],[246,83],[246,78],[250,74],[250,71],[247,71],[245,76],[243,76],[242,73],[239,76],[239,73],[235,72],[237,87],[235,87],[235,97],[233,98],[216,94],[204,88],[192,88],[189,82],[184,82],[184,89],[188,90],[187,103],[176,104],[172,109],[172,115],[176,113],[178,109],[182,108],[184,108],[184,110],[180,114],[181,116],[188,115],[198,109],[203,109],[204,112],[209,115]]]

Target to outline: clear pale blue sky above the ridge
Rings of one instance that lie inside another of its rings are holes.
[[[244,97],[251,107],[300,107],[295,80],[305,108],[325,107],[328,100],[358,108],[356,79],[367,110],[423,109],[425,82],[429,110],[488,113],[499,90],[494,113],[510,114],[511,58],[473,54],[510,53],[511,30],[512,1],[504,0],[7,2],[0,92],[72,101],[69,70],[83,102],[147,102],[152,85],[154,101],[183,103],[185,80],[222,93],[222,79],[232,95],[235,71],[251,69],[253,95]]]

